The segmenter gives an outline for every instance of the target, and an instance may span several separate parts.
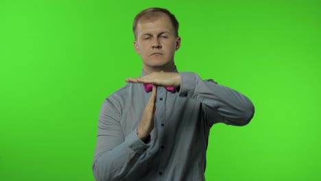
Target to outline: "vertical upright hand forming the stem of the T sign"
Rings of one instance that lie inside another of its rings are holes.
[[[150,132],[154,129],[154,112],[156,110],[155,101],[156,101],[157,87],[153,85],[152,95],[147,102],[145,107],[141,123],[137,128],[137,136],[141,141],[145,141],[145,138],[150,135]]]

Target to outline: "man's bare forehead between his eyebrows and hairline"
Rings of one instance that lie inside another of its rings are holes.
[[[174,32],[173,24],[166,14],[159,14],[148,19],[141,19],[137,23],[137,34],[153,34],[158,32]]]

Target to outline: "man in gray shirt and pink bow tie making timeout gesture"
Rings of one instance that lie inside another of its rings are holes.
[[[211,126],[246,125],[254,106],[241,93],[201,80],[197,73],[178,73],[178,22],[168,10],[143,10],[133,31],[143,71],[102,105],[95,179],[205,180]]]

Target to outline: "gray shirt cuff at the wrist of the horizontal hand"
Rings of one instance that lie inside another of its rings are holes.
[[[180,73],[180,97],[191,97],[195,93],[196,77],[197,74],[193,72]]]

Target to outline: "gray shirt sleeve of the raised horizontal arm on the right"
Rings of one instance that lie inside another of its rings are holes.
[[[252,119],[254,106],[245,95],[213,80],[202,80],[196,73],[182,72],[180,75],[180,97],[200,101],[204,119],[210,126],[219,122],[246,125]]]

